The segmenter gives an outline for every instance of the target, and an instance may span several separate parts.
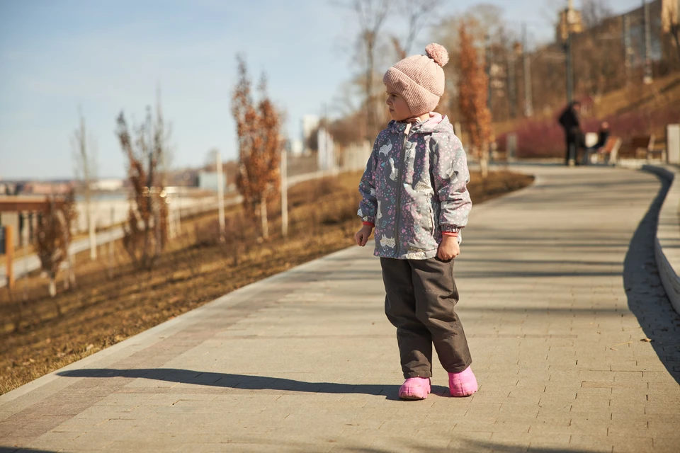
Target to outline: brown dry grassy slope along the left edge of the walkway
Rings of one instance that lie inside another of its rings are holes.
[[[270,207],[270,238],[240,207],[227,211],[227,241],[217,214],[183,222],[152,272],[135,270],[118,241],[98,260],[76,257],[77,287],[47,294],[39,272],[0,289],[0,394],[196,308],[212,299],[353,245],[361,173],[308,181],[289,190],[289,234],[280,234],[280,205]],[[498,171],[468,185],[480,203],[529,185],[531,176]],[[313,196],[312,196],[313,194]]]

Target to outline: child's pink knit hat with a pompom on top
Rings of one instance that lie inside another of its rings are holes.
[[[412,55],[387,69],[382,82],[405,100],[414,116],[431,112],[444,93],[448,52],[439,44],[425,47],[426,55]]]

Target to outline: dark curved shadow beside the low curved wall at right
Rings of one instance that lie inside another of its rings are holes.
[[[680,316],[669,302],[662,285],[655,258],[655,236],[659,210],[671,185],[659,177],[661,188],[650,209],[642,218],[630,240],[628,253],[623,261],[623,288],[628,297],[628,308],[638,318],[652,348],[659,356],[669,374],[680,383]]]

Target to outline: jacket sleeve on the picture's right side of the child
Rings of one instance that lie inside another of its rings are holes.
[[[430,146],[432,179],[440,204],[439,225],[443,232],[458,231],[467,225],[472,209],[467,192],[470,182],[467,156],[453,132],[433,134]]]

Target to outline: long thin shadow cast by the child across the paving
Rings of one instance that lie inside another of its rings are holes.
[[[243,390],[282,390],[305,391],[324,394],[366,394],[385,396],[390,401],[399,401],[398,385],[380,384],[337,384],[334,382],[304,382],[280,377],[249,376],[246,374],[229,374],[198,372],[189,369],[151,368],[151,369],[74,369],[57,373],[64,377],[130,377],[154,379],[157,381],[179,382],[213,387],[225,387]],[[448,388],[432,386],[432,394],[446,396]]]

